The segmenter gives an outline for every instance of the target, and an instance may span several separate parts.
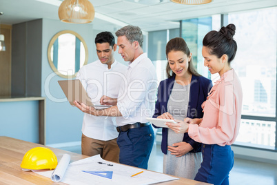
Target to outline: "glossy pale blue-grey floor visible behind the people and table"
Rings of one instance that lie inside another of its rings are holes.
[[[60,148],[81,153],[81,146]],[[161,146],[154,145],[148,170],[163,172],[163,153]],[[229,175],[230,185],[277,185],[277,165],[235,158],[234,168]]]

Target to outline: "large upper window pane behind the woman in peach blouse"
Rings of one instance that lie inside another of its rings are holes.
[[[232,64],[243,86],[243,115],[276,117],[277,8],[232,13],[238,44]]]

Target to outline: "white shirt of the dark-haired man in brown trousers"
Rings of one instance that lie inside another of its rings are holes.
[[[127,66],[114,61],[111,68],[97,60],[83,66],[76,77],[80,79],[94,105],[100,104],[103,95],[117,98],[119,87],[125,80]],[[118,137],[115,117],[96,117],[85,113],[83,117],[83,135],[107,141]]]

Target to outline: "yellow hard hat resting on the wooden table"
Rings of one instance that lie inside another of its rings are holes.
[[[30,170],[52,170],[57,167],[57,164],[57,157],[52,150],[45,147],[36,147],[25,153],[20,166]]]

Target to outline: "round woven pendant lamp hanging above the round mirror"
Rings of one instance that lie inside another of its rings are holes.
[[[90,23],[94,7],[88,0],[64,0],[59,7],[59,18],[65,23]]]

